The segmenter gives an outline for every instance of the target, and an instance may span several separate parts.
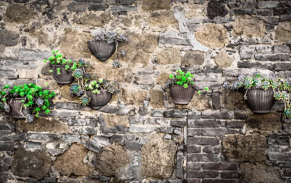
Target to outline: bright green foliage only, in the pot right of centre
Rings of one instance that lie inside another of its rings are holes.
[[[200,94],[201,91],[194,85],[194,75],[191,74],[190,71],[183,72],[181,69],[176,70],[176,74],[170,74],[169,80],[166,81],[166,86],[168,87],[170,84],[177,85],[177,86],[183,86],[184,88],[188,87],[194,87],[198,90],[198,93]],[[209,91],[208,87],[205,87],[203,91]]]

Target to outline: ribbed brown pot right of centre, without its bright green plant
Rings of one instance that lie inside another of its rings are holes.
[[[184,88],[170,84],[169,88],[175,104],[189,104],[195,92],[195,88],[192,86]]]

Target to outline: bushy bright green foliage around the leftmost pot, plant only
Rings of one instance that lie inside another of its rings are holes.
[[[14,86],[12,89],[9,88],[9,85],[5,85],[0,90],[0,108],[4,109],[5,112],[10,111],[10,107],[7,105],[8,100],[24,98],[21,101],[21,108],[32,108],[32,113],[35,117],[50,113],[49,105],[51,104],[51,99],[55,96],[54,92],[43,90],[42,87],[33,83]],[[24,117],[29,122],[33,121],[33,116],[30,114]]]

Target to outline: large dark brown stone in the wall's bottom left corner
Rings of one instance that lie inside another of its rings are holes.
[[[50,168],[50,156],[43,150],[31,152],[17,149],[11,160],[11,172],[20,177],[32,176],[35,179],[42,179],[49,174]]]

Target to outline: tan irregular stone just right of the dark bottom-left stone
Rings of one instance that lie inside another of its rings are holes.
[[[53,166],[65,176],[69,176],[71,173],[89,176],[93,168],[83,163],[83,159],[87,156],[88,151],[84,145],[75,143],[66,152],[57,157]]]

